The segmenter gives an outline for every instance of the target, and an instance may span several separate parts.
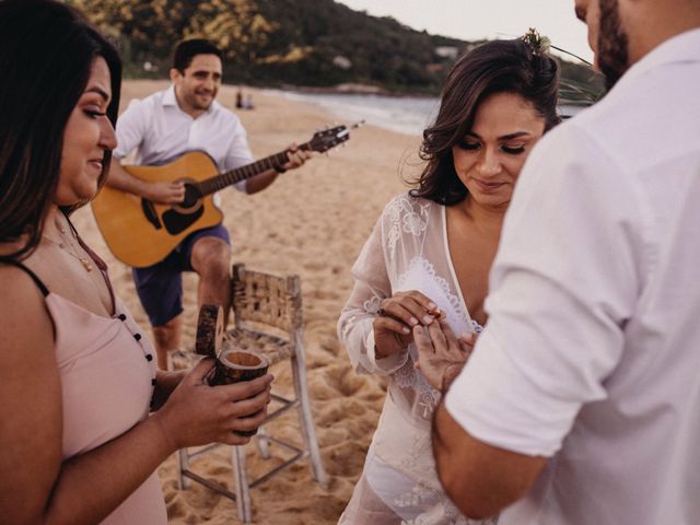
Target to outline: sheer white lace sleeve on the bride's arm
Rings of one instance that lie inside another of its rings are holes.
[[[388,206],[387,206],[388,209]],[[354,285],[338,319],[338,338],[358,373],[388,374],[404,365],[408,353],[376,360],[372,324],[383,299],[392,295],[387,268],[387,209],[374,225],[351,269]]]

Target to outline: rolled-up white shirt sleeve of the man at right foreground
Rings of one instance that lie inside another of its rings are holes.
[[[506,214],[489,322],[446,395],[472,436],[551,456],[581,408],[606,397],[646,271],[645,202],[575,121],[536,147]]]

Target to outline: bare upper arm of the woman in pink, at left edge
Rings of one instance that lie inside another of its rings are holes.
[[[61,385],[42,294],[15,268],[0,268],[0,515],[33,524],[60,471]]]

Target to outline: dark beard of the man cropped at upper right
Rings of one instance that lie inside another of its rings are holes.
[[[628,38],[620,27],[618,0],[599,1],[598,67],[609,91],[629,68]]]

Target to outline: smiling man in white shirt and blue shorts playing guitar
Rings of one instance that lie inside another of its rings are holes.
[[[119,162],[137,150],[141,165],[163,164],[191,150],[207,152],[220,172],[254,162],[246,131],[231,110],[215,101],[222,75],[222,52],[203,38],[183,40],[175,47],[173,85],[142,101],[133,101],[117,124],[106,185],[144,197],[152,202],[176,205],[185,197],[184,183],[148,183],[127,173]],[[236,188],[256,194],[280,173],[301,166],[307,152],[290,145],[289,162],[260,173]],[[219,195],[214,196],[219,203]],[[220,304],[229,316],[231,306],[231,240],[223,224],[191,233],[162,261],[133,268],[141,304],[153,326],[158,364],[166,368],[170,351],[180,348],[183,271],[199,276],[199,303]]]

